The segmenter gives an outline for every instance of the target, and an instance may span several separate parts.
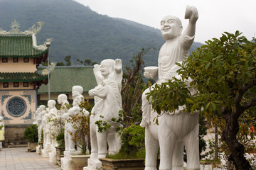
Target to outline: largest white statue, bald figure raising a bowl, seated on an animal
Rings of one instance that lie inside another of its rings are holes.
[[[158,75],[156,84],[169,81],[173,77],[181,78],[176,73],[176,62],[187,60],[194,40],[198,11],[188,6],[186,18],[189,23],[182,33],[182,25],[176,16],[166,16],[161,20],[161,34],[166,42],[159,51],[158,67],[145,68],[144,77],[152,79]],[[153,85],[154,86],[154,85]],[[152,87],[151,87],[152,88]],[[142,94],[142,127],[145,130],[146,170],[156,170],[156,157],[160,146],[159,169],[183,169],[183,145],[186,147],[188,162],[186,169],[200,169],[198,143],[198,113],[183,113],[179,109],[175,113],[163,113],[159,116],[159,125],[153,122],[156,111],[151,110],[146,100],[146,89]],[[181,107],[182,108],[182,107]],[[154,147],[152,147],[154,146]]]

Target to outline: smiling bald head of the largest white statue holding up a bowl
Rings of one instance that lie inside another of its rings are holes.
[[[164,40],[170,40],[181,35],[181,21],[176,16],[166,16],[161,20],[161,34]]]

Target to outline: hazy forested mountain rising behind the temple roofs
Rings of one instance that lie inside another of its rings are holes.
[[[0,28],[10,30],[16,20],[20,30],[38,21],[45,24],[37,35],[38,45],[53,38],[50,61],[90,59],[100,62],[120,58],[127,63],[142,47],[159,48],[164,43],[160,30],[92,11],[73,0],[0,0]],[[191,50],[201,46],[194,43]],[[158,50],[149,50],[146,65],[157,63]]]

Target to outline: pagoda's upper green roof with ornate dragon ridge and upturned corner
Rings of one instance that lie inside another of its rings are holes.
[[[0,57],[38,57],[38,62],[45,62],[48,57],[48,46],[51,39],[43,45],[37,45],[36,34],[40,32],[43,23],[38,22],[28,30],[19,30],[18,22],[11,23],[11,30],[0,29]]]

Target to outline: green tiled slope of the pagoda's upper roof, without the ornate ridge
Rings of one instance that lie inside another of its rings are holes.
[[[32,35],[1,35],[0,57],[40,57],[48,50],[36,50]]]

